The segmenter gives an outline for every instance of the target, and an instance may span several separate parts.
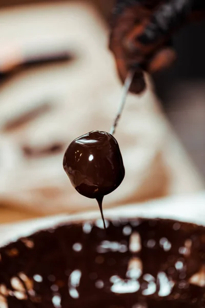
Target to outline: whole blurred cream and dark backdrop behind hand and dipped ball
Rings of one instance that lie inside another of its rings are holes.
[[[114,1],[0,2],[0,222],[96,208],[64,174],[76,137],[109,130],[121,84]],[[116,133],[126,179],[105,207],[193,193],[205,177],[205,21],[173,37],[175,65],[129,95]]]

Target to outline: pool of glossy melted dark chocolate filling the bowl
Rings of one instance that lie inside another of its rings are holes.
[[[203,274],[196,279],[204,273],[204,227],[151,219],[102,227],[58,226],[0,248],[8,307],[205,307]]]

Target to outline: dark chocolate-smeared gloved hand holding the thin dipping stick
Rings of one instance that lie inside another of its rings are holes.
[[[110,49],[125,81],[135,71],[130,91],[145,90],[144,71],[154,73],[176,59],[172,34],[183,24],[205,16],[205,0],[118,0],[113,9]]]

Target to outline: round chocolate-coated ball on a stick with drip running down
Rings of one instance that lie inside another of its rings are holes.
[[[91,131],[69,145],[63,165],[79,194],[97,199],[103,218],[103,197],[115,190],[125,177],[116,139],[105,131]]]

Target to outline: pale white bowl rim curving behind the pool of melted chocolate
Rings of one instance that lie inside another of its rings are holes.
[[[104,210],[107,220],[163,219],[191,223],[205,227],[205,192],[190,196],[162,198],[139,204],[128,204]],[[86,211],[75,215],[62,214],[15,224],[0,225],[0,247],[41,230],[64,224],[92,222],[101,219],[100,211]]]

